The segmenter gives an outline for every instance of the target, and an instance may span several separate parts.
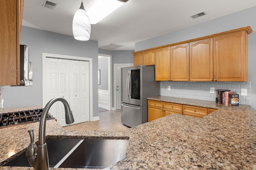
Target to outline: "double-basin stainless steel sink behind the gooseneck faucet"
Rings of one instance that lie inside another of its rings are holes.
[[[55,168],[103,169],[125,158],[128,142],[126,139],[48,138],[49,165]],[[23,153],[4,166],[30,165]]]

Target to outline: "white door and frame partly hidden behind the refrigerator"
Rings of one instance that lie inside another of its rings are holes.
[[[114,109],[121,110],[121,68],[133,66],[133,63],[118,63],[114,64]]]

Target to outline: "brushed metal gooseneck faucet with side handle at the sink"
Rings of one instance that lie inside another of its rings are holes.
[[[66,99],[62,97],[56,97],[46,104],[39,124],[38,146],[36,146],[36,144],[34,143],[33,129],[28,130],[31,143],[26,151],[26,157],[28,158],[28,162],[30,163],[30,165],[36,170],[49,169],[49,159],[45,140],[45,125],[48,111],[52,104],[56,101],[61,101],[64,104],[66,124],[74,123],[74,117]]]

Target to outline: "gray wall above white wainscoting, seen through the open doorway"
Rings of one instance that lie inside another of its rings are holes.
[[[98,69],[100,69],[100,85],[98,89],[108,90],[108,59],[109,57],[100,57],[98,59]]]

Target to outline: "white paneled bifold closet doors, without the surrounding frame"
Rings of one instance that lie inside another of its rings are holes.
[[[89,121],[89,62],[46,58],[47,101],[63,97],[70,104],[74,123]],[[50,109],[57,122],[66,126],[64,105],[56,102]]]

